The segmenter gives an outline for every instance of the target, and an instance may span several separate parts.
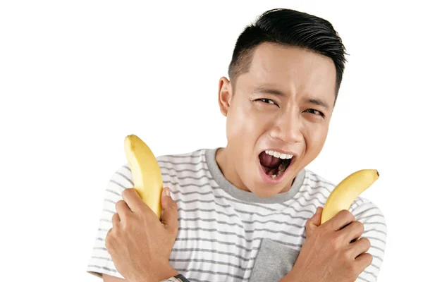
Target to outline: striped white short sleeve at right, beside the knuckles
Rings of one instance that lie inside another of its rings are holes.
[[[373,256],[373,261],[367,269],[358,276],[357,282],[376,282],[377,276],[384,262],[386,248],[386,221],[384,214],[373,202],[358,197],[351,205],[350,212],[357,221],[364,225],[361,238],[370,240],[370,249],[367,251]]]

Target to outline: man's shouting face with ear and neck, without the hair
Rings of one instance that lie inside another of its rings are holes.
[[[239,75],[236,85],[226,78],[219,84],[227,117],[227,178],[260,197],[289,190],[324,146],[335,87],[331,59],[305,49],[259,45],[250,71]]]

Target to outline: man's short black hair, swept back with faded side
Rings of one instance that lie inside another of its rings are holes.
[[[245,27],[236,41],[228,69],[231,80],[235,82],[238,75],[249,70],[255,48],[264,42],[301,47],[331,58],[336,67],[338,96],[346,53],[341,37],[328,20],[285,8],[262,13],[256,23]]]

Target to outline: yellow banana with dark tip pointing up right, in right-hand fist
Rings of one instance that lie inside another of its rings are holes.
[[[321,224],[325,223],[343,209],[350,209],[355,198],[367,190],[379,178],[376,169],[362,169],[347,176],[333,189],[324,204]]]

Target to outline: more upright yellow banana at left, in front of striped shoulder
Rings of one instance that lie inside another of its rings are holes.
[[[161,216],[163,180],[152,150],[136,135],[125,137],[125,157],[133,175],[134,188],[158,218]]]

